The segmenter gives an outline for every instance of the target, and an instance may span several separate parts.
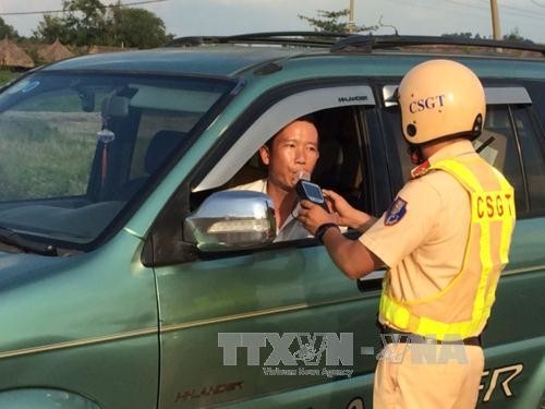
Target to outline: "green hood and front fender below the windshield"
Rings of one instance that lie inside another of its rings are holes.
[[[61,387],[104,407],[155,407],[157,301],[141,249],[122,230],[88,254],[3,255],[3,390]],[[128,378],[138,393],[120,398]]]

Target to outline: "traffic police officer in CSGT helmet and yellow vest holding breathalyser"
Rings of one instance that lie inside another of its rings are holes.
[[[387,212],[374,220],[324,191],[335,212],[304,201],[299,218],[350,278],[388,267],[378,321],[383,333],[398,335],[385,338],[396,341],[378,362],[374,407],[471,408],[484,368],[480,335],[508,262],[513,189],[471,143],[486,110],[471,70],[450,60],[421,63],[401,81],[398,100],[417,167]],[[364,233],[350,240],[338,225]],[[455,346],[463,353],[441,361],[441,348]]]

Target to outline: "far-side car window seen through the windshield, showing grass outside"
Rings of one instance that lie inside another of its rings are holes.
[[[0,113],[0,201],[85,194],[100,123],[71,88]]]

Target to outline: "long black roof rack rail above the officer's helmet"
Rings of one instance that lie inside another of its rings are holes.
[[[330,51],[342,51],[347,49],[363,49],[372,52],[376,48],[395,48],[407,46],[471,46],[484,48],[504,48],[521,51],[541,52],[545,56],[545,46],[531,41],[499,41],[493,39],[473,39],[458,37],[428,37],[428,36],[374,36],[374,35],[350,35],[335,43]]]

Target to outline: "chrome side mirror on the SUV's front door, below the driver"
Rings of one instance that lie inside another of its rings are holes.
[[[275,238],[272,200],[250,191],[211,194],[185,219],[183,229],[184,241],[203,252],[259,248]]]

